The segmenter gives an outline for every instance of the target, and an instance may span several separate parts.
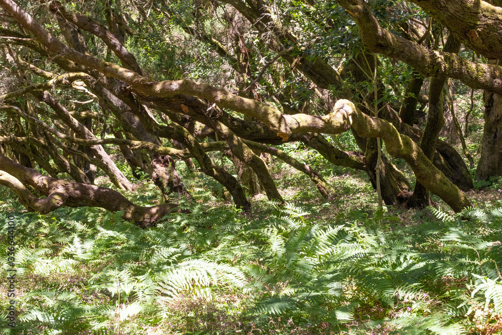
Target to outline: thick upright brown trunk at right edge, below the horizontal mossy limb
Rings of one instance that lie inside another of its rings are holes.
[[[484,129],[476,178],[502,176],[502,95],[484,92]]]

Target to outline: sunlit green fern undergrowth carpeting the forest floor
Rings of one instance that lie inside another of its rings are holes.
[[[24,334],[409,333],[502,330],[502,210],[403,224],[392,212],[251,218],[196,204],[141,230],[91,208],[15,213]],[[5,205],[4,205],[5,207]],[[4,222],[6,214],[3,215]],[[8,260],[1,231],[2,278]],[[7,288],[2,286],[3,297]],[[0,308],[6,311],[7,298]]]

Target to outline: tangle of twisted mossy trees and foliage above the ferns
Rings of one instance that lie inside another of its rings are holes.
[[[468,114],[462,130],[453,95],[469,89],[484,90],[476,179],[501,175],[495,1],[0,5],[0,183],[30,211],[96,206],[155,225],[177,208],[170,194],[191,199],[178,159],[252,211],[249,196],[262,190],[284,202],[270,155],[329,198],[334,190],[319,172],[278,148],[300,142],[365,171],[387,205],[427,206],[432,192],[460,212],[473,188],[464,158],[473,159]],[[439,138],[445,110],[462,155]],[[339,141],[349,130],[352,147]],[[165,203],[142,207],[120,193],[135,186],[110,146],[135,177],[152,178]],[[238,166],[237,176],[211,152]],[[406,161],[415,186],[388,155]],[[96,171],[116,190],[95,186]]]

